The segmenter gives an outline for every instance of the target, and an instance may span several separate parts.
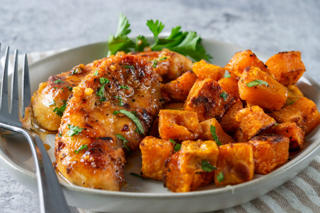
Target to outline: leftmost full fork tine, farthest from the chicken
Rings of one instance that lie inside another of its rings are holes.
[[[9,47],[6,49],[6,57],[4,70],[2,73],[1,93],[0,93],[0,112],[8,113],[8,60],[9,60]]]

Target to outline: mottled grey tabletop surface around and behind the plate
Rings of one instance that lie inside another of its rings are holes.
[[[0,0],[1,56],[4,46],[21,52],[76,47],[104,41],[116,32],[118,14],[131,23],[131,36],[150,34],[146,21],[164,31],[181,25],[203,38],[272,56],[302,52],[308,75],[320,81],[320,1],[12,1]],[[0,166],[0,212],[38,212],[37,194]],[[73,208],[73,211],[77,212]]]

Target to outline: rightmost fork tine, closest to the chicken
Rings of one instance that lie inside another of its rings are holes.
[[[29,66],[27,53],[24,54],[24,61],[22,67],[22,118],[25,115],[25,107],[29,106],[31,102],[31,88],[29,77]]]

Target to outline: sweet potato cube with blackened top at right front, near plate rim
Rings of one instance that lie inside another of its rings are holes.
[[[283,135],[258,135],[248,142],[253,145],[255,173],[268,174],[288,160],[289,138]]]

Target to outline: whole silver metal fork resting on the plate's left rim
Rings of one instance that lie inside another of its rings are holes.
[[[1,49],[1,43],[0,43]],[[9,47],[6,49],[6,59],[0,93],[0,126],[23,134],[31,147],[36,165],[40,211],[46,213],[70,212],[66,199],[62,193],[52,162],[39,136],[22,126],[19,120],[18,94],[18,50],[14,52],[14,71],[11,83],[11,109],[8,106],[8,59]],[[25,117],[25,107],[31,102],[31,89],[27,54],[24,55],[22,68],[22,118]]]

